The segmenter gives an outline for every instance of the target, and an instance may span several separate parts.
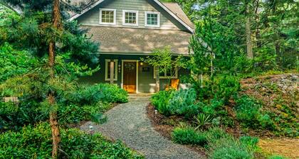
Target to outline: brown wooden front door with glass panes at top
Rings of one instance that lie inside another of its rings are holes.
[[[136,93],[136,62],[124,62],[123,67],[123,88]]]

